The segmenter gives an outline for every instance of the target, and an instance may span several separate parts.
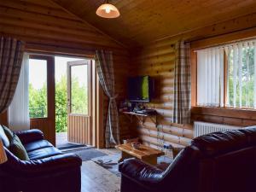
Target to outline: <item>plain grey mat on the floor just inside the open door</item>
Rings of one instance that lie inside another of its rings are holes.
[[[77,154],[79,157],[85,160],[91,160],[96,157],[108,156],[95,148],[78,148],[74,150],[62,151],[64,154]]]

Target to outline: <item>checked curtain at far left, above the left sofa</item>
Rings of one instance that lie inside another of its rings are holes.
[[[15,38],[0,41],[0,113],[8,107],[15,94],[20,76],[24,44]]]

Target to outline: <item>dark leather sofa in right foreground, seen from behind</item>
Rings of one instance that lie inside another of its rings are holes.
[[[165,171],[125,160],[119,164],[121,192],[256,191],[255,127],[197,137]]]

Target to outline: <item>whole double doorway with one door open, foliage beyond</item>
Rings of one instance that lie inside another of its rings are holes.
[[[31,129],[58,148],[103,147],[103,92],[91,59],[29,55]]]

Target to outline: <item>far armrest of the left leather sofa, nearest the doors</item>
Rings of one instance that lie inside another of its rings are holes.
[[[20,142],[23,144],[44,139],[44,133],[37,129],[16,131],[15,134],[20,138]]]

